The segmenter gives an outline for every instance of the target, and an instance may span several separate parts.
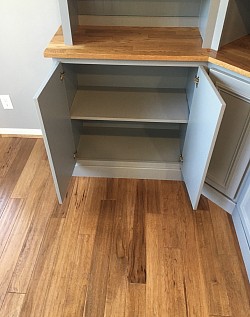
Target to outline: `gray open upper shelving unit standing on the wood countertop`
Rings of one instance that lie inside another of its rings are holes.
[[[203,48],[220,43],[229,0],[60,0],[63,36],[74,44],[84,26],[196,28]],[[178,29],[176,30],[178,32]]]

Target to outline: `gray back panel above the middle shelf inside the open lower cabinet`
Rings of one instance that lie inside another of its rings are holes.
[[[188,68],[78,65],[78,86],[185,89]]]

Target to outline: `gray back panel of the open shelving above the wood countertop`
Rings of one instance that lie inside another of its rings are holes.
[[[201,0],[79,0],[79,15],[199,16]]]

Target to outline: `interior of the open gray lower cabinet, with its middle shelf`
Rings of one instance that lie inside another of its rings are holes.
[[[63,67],[78,162],[179,164],[197,68]]]

